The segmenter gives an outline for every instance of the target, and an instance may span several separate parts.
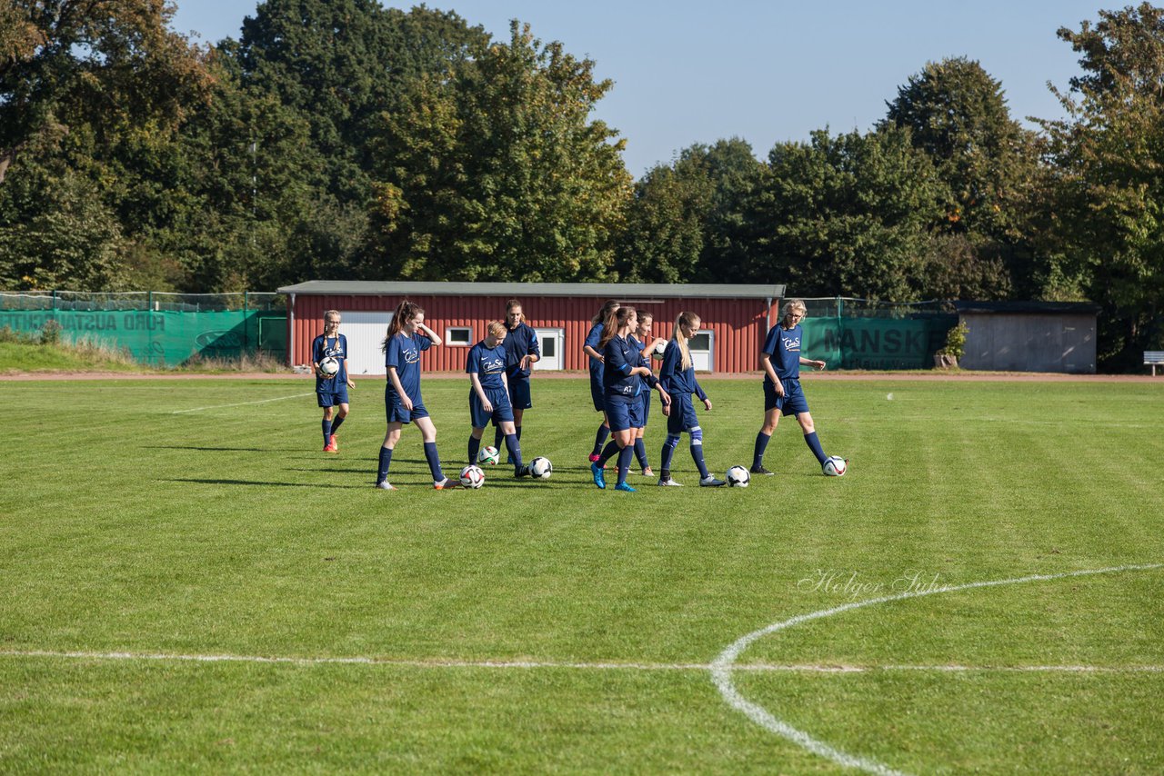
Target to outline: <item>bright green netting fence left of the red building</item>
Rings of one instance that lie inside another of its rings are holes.
[[[0,328],[127,349],[135,361],[175,366],[191,357],[269,355],[285,361],[286,312],[278,294],[85,294],[0,292]]]

